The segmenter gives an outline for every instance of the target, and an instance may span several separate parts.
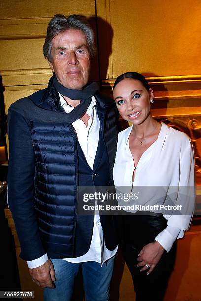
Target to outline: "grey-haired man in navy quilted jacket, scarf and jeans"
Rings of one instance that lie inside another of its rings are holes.
[[[77,186],[113,184],[115,104],[88,84],[94,40],[83,17],[55,15],[43,52],[55,73],[48,88],[8,114],[8,202],[20,256],[44,300],[70,300],[80,267],[86,300],[109,300],[115,227],[109,216],[77,213]]]

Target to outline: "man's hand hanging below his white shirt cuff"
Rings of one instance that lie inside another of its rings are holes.
[[[52,262],[48,259],[42,266],[29,269],[33,282],[40,287],[54,288],[55,271]]]

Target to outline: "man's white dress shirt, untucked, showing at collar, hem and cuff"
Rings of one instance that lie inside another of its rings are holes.
[[[59,93],[61,106],[64,108],[66,113],[71,112],[74,108],[69,106],[62,95]],[[77,139],[82,148],[82,151],[85,155],[86,161],[93,169],[94,159],[96,156],[96,151],[99,142],[99,129],[100,121],[96,111],[96,99],[92,96],[91,104],[87,109],[87,115],[90,119],[88,120],[87,127],[84,122],[80,119],[74,121],[72,126],[74,127]],[[109,258],[113,257],[117,252],[118,247],[115,250],[110,251],[106,248],[104,243],[103,230],[100,222],[99,214],[94,215],[94,225],[93,225],[93,234],[88,252],[82,256],[76,258],[63,258],[68,262],[79,263],[86,261],[96,261],[103,265],[103,263]],[[47,254],[44,254],[40,258],[28,261],[29,268],[36,268],[44,264],[48,260]]]

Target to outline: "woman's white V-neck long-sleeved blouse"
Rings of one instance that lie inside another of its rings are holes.
[[[132,186],[134,161],[129,149],[131,130],[132,126],[118,135],[113,176],[115,186]],[[145,188],[142,189],[143,197],[136,204],[148,205],[150,208],[154,204],[166,205],[169,204],[169,195],[172,204],[182,204],[182,215],[175,215],[173,210],[171,213],[167,211],[168,215],[163,212],[167,219],[167,228],[155,238],[168,252],[174,241],[183,237],[183,230],[189,228],[194,211],[195,171],[190,138],[162,123],[158,139],[142,154],[136,166],[133,185],[134,188]]]

